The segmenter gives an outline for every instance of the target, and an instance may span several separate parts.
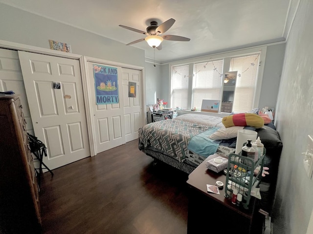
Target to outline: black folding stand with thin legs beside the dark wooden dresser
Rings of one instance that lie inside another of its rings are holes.
[[[47,148],[45,144],[39,140],[37,137],[27,133],[30,152],[36,157],[35,160],[39,161],[39,168],[35,168],[36,177],[38,177],[38,189],[40,190],[41,175],[43,174],[43,169],[47,169],[48,172],[53,176],[53,172],[45,165],[43,162],[44,156],[47,156]]]

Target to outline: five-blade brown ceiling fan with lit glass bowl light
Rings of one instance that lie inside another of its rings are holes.
[[[163,39],[165,40],[175,40],[175,41],[190,41],[189,38],[185,38],[185,37],[180,37],[180,36],[175,36],[175,35],[162,35],[163,33],[165,33],[167,30],[170,29],[170,27],[173,26],[173,24],[175,23],[176,20],[174,19],[169,19],[166,20],[165,22],[163,22],[160,25],[157,25],[156,21],[151,21],[150,22],[150,26],[148,26],[146,28],[146,32],[145,31],[141,31],[135,28],[131,28],[128,26],[124,26],[124,25],[118,25],[122,28],[126,28],[128,30],[134,31],[136,33],[141,33],[146,35],[146,38],[142,38],[142,39],[138,39],[135,41],[132,41],[126,45],[132,45],[134,43],[138,43],[140,41],[147,41],[148,44],[153,47],[156,48],[158,50],[162,49],[162,45],[161,42],[163,41]]]

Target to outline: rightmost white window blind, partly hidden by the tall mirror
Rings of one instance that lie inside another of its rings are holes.
[[[253,109],[258,64],[259,55],[231,59],[229,71],[238,71],[233,112]]]

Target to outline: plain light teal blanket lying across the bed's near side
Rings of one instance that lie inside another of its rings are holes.
[[[219,128],[212,127],[211,129],[192,137],[187,149],[197,155],[206,157],[215,154],[221,141],[212,140],[209,136],[217,130],[219,130]]]

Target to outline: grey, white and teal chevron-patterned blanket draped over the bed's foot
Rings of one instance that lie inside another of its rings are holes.
[[[211,128],[175,119],[149,123],[139,130],[139,149],[153,147],[183,162],[191,138]]]

